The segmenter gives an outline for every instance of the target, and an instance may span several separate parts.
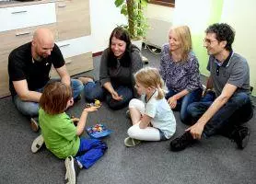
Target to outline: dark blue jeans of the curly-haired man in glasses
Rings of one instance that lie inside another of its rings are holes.
[[[196,122],[215,100],[215,93],[210,91],[200,102],[188,106],[188,114],[192,122]],[[230,135],[235,127],[250,121],[253,115],[250,96],[240,92],[228,99],[227,103],[219,109],[204,126],[204,136],[209,137],[216,133]]]

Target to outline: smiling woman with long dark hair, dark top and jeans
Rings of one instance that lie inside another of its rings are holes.
[[[87,101],[106,97],[111,109],[122,109],[137,97],[133,74],[142,67],[140,50],[131,43],[129,33],[117,27],[111,32],[109,48],[102,53],[99,81],[89,77],[78,79],[85,85]]]

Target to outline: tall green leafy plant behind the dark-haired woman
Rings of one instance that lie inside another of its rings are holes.
[[[115,0],[115,6],[120,7],[121,14],[128,19],[128,25],[123,26],[123,28],[128,30],[132,40],[145,38],[148,24],[144,9],[147,4],[148,0]]]

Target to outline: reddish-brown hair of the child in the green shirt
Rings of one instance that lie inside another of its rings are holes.
[[[62,82],[47,84],[40,98],[40,106],[48,114],[60,114],[66,109],[67,101],[72,98],[72,89]]]

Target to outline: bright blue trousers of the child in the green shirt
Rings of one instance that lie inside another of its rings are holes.
[[[100,140],[80,138],[80,146],[76,154],[76,160],[85,168],[91,167],[104,155],[107,149],[107,144]]]

